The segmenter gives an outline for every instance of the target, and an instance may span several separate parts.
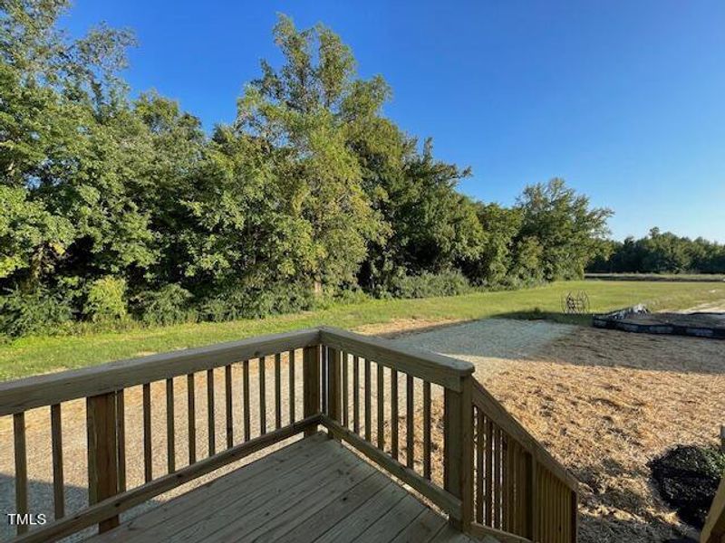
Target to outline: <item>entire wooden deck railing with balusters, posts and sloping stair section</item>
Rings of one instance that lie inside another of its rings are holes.
[[[47,409],[51,423],[55,519],[28,533],[19,525],[16,540],[53,541],[92,525],[112,529],[122,512],[142,502],[323,425],[463,531],[503,542],[575,541],[575,481],[472,373],[467,362],[321,328],[0,384],[0,417],[14,421],[18,513],[28,512],[25,413]],[[152,394],[155,383],[161,402]],[[131,488],[124,400],[139,386],[143,482]],[[184,389],[189,414],[179,427]],[[215,398],[220,390],[223,409]],[[198,405],[199,397],[205,405]],[[61,415],[65,403],[82,398],[89,506],[68,512]],[[165,451],[153,440],[152,402],[165,406]],[[198,407],[206,411],[205,427],[199,427]],[[184,458],[177,450],[181,440]],[[160,454],[162,473],[153,462]]]

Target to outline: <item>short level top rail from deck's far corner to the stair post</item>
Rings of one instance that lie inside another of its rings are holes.
[[[320,327],[320,342],[326,347],[369,358],[382,366],[399,369],[457,392],[461,389],[461,379],[473,375],[476,369],[470,362],[457,358],[329,326]]]

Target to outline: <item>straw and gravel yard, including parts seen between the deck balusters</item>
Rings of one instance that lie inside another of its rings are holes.
[[[647,462],[676,444],[716,443],[719,424],[725,422],[725,342],[512,319],[485,319],[463,324],[401,320],[359,331],[472,362],[477,378],[581,481],[581,541],[649,542],[694,535],[694,531],[681,524],[653,491]],[[268,364],[271,362],[267,361]],[[286,358],[282,362],[285,371]],[[255,397],[259,390],[256,366],[252,370],[250,387]],[[272,372],[273,367],[267,367],[267,379]],[[235,367],[235,384],[241,378],[239,374],[240,369]],[[204,431],[206,383],[203,376],[198,377],[195,391],[198,457],[203,458],[207,454]],[[176,457],[177,465],[185,465],[189,454],[185,433],[188,416],[186,379],[176,381]],[[284,383],[283,379],[283,398],[287,397]],[[224,386],[222,370],[215,380],[218,414],[223,414],[225,409]],[[375,379],[372,379],[372,386],[374,397]],[[141,395],[137,388],[129,389],[125,398],[130,488],[143,481]],[[403,389],[401,383],[401,392]],[[270,391],[268,384],[267,395]],[[297,404],[301,398],[302,390],[298,390]],[[420,401],[420,392],[415,398]],[[152,385],[155,475],[166,472],[165,401],[163,383]],[[235,392],[235,413],[241,409],[239,401],[240,396]],[[402,402],[401,398],[401,405],[405,405]],[[270,398],[267,406],[272,404]],[[283,423],[287,409],[285,405]],[[440,414],[440,398],[434,397],[434,410],[434,416]],[[300,416],[301,405],[297,405],[296,413]],[[404,409],[401,409],[403,413]],[[375,416],[373,411],[373,440],[376,439]],[[386,433],[390,431],[389,416],[386,412]],[[0,442],[12,443],[12,421],[8,417],[4,419],[0,420]],[[225,446],[224,417],[218,416],[217,423],[220,450]],[[260,424],[256,411],[252,412],[251,424],[255,435]],[[268,409],[267,428],[273,428],[274,424],[274,413]],[[36,512],[51,515],[50,481],[53,479],[47,412],[29,412],[27,427],[28,463],[34,466],[29,473],[31,504]],[[402,417],[399,427],[402,444],[405,443]],[[242,439],[240,433],[241,428],[237,426],[236,443]],[[434,431],[434,439],[436,435]],[[440,454],[442,447],[436,447],[436,444],[434,453]],[[63,405],[67,512],[87,504],[85,446],[84,405],[69,402]],[[416,450],[420,449],[419,443]],[[404,453],[404,446],[401,446],[401,455]],[[13,509],[12,458],[12,454],[0,455],[0,510],[4,511]],[[254,458],[248,458],[245,462],[252,460]],[[235,467],[237,464],[228,466],[225,471]],[[440,473],[434,474],[434,479],[437,478]],[[139,510],[125,514],[124,519],[188,489],[186,486],[162,495]],[[0,539],[8,536],[8,529],[1,528]]]

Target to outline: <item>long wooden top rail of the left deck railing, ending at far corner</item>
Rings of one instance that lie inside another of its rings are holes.
[[[319,329],[301,329],[0,382],[0,416],[319,343]]]

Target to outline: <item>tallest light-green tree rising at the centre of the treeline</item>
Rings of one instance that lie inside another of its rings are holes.
[[[285,62],[279,70],[263,62],[261,79],[238,101],[236,127],[259,141],[284,195],[282,208],[304,220],[294,242],[308,249],[300,274],[316,290],[336,288],[354,282],[368,243],[384,230],[347,145],[353,55],[323,25],[299,31],[285,16],[275,25],[275,43]]]

